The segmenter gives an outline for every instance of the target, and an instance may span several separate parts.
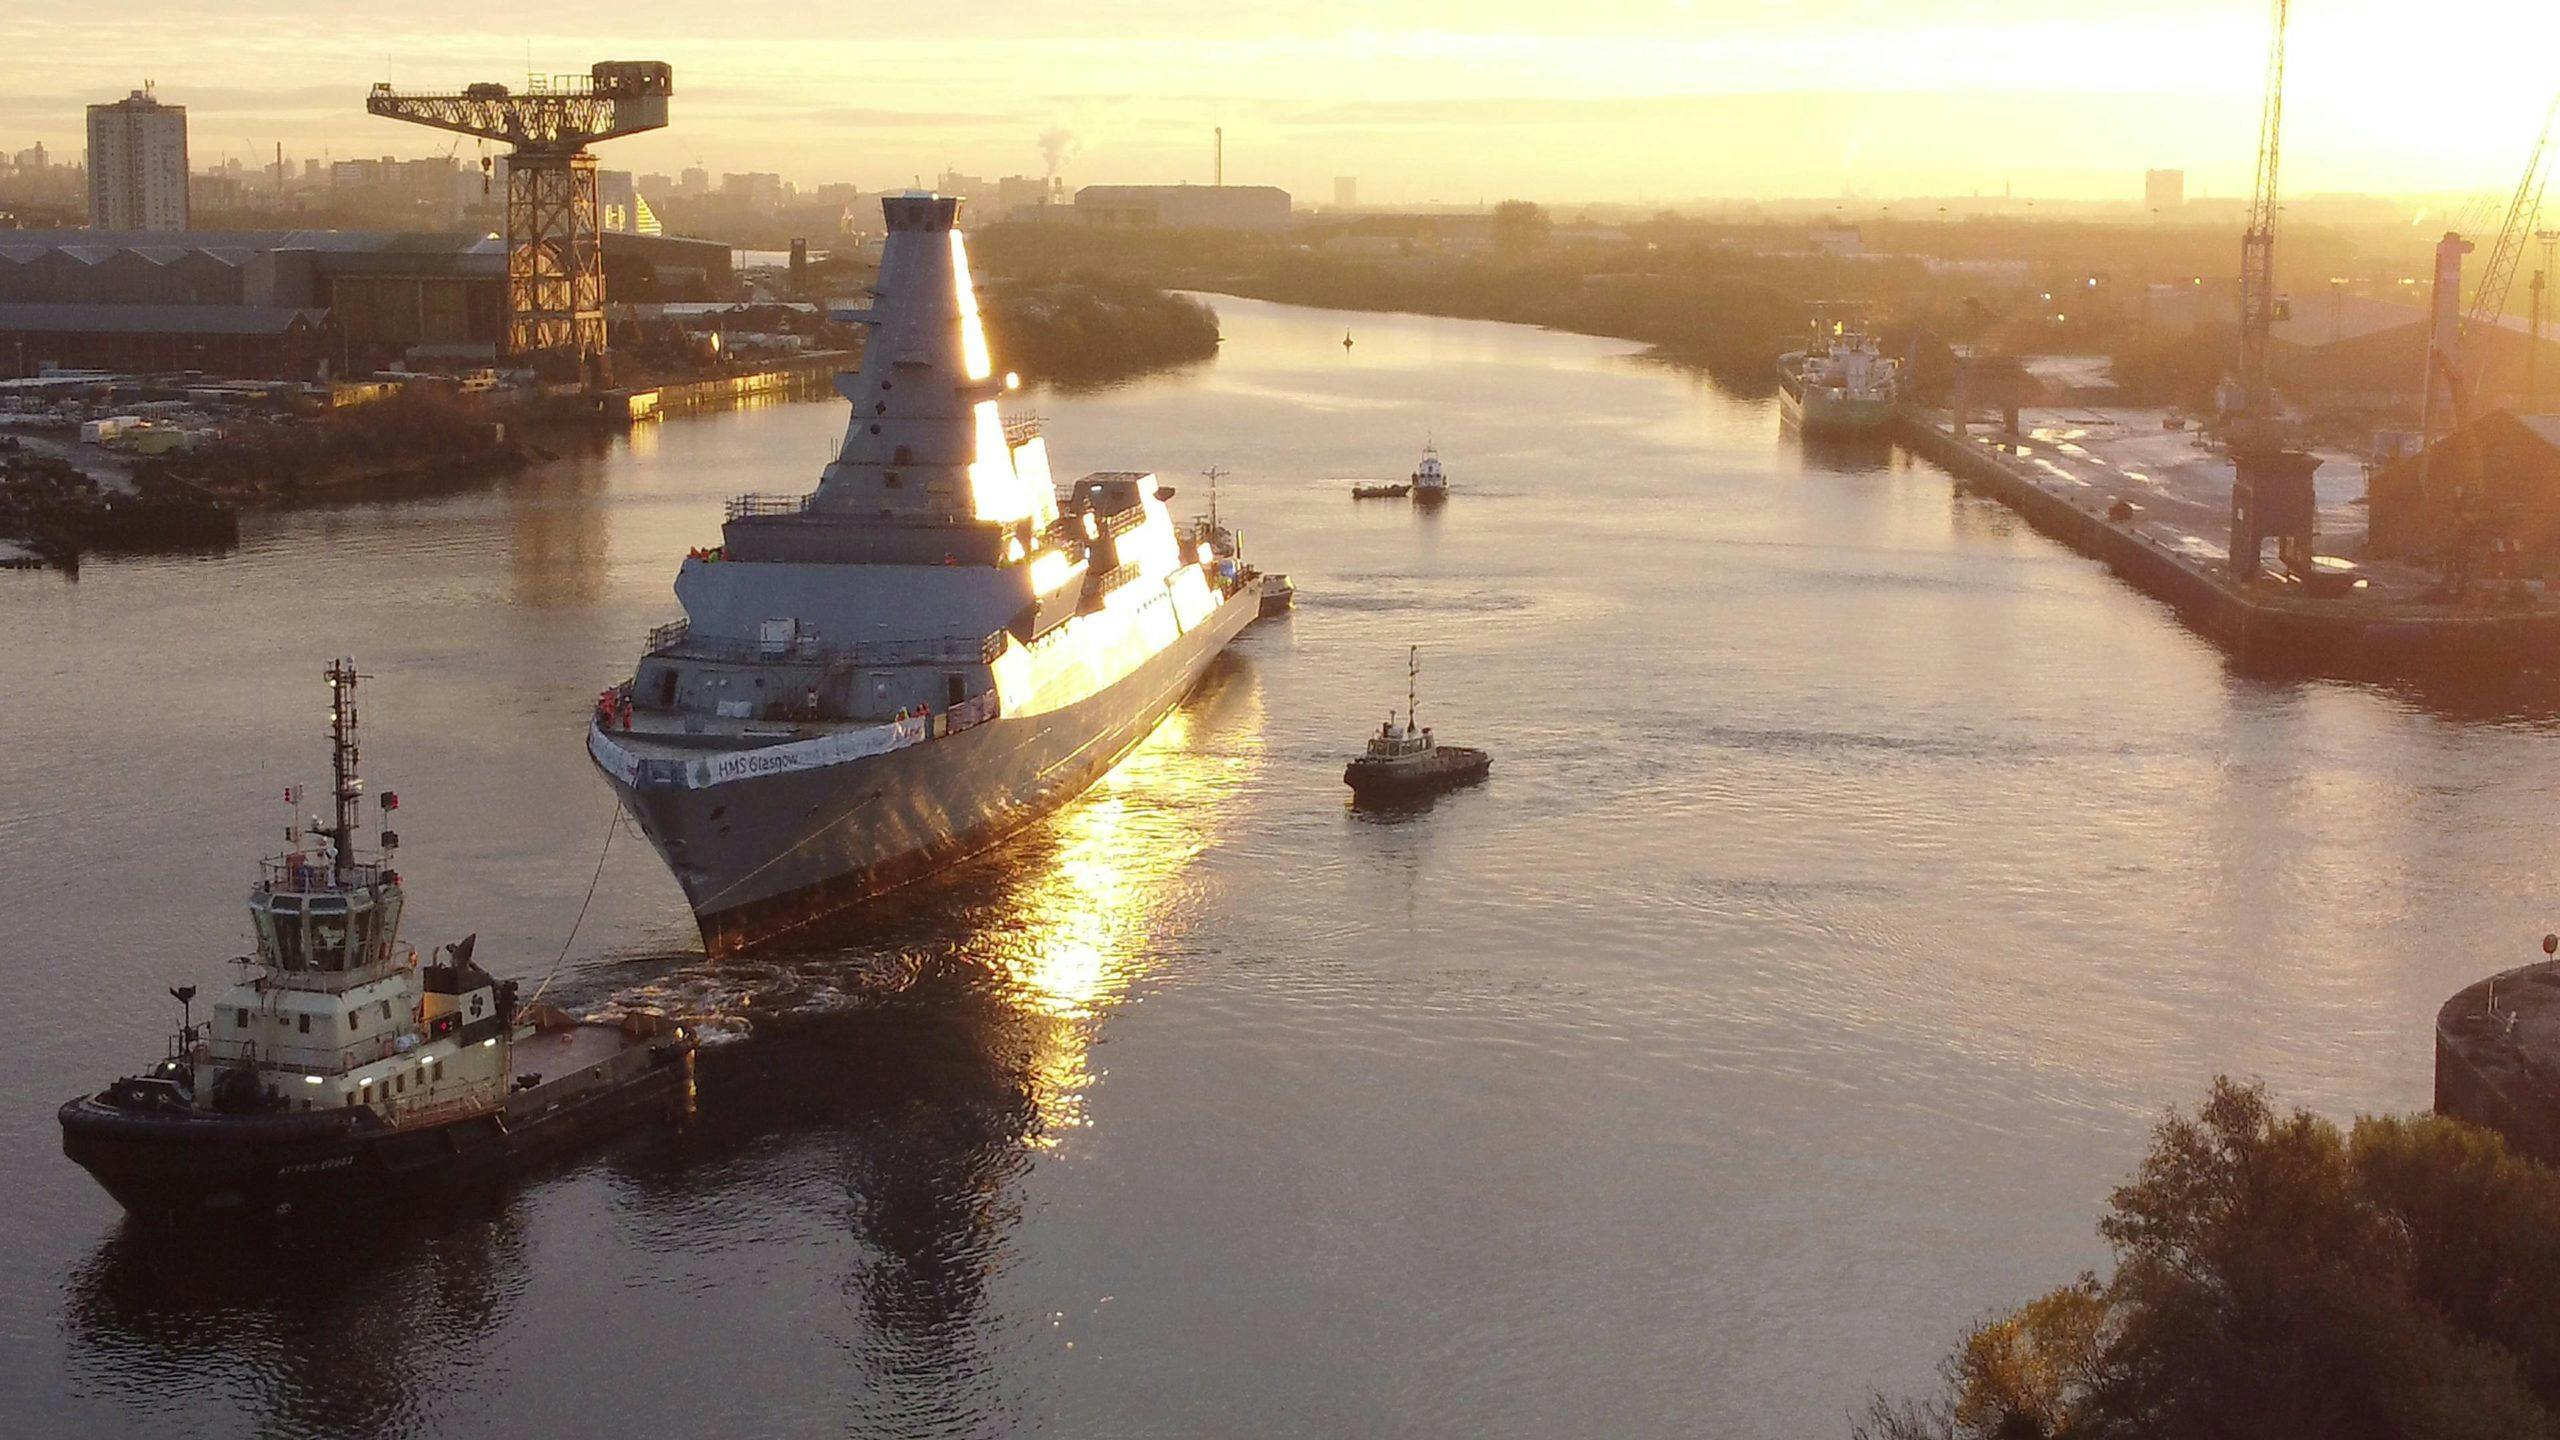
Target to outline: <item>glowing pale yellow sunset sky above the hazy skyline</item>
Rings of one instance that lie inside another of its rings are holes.
[[[2299,0],[2289,190],[2509,184],[2552,87],[2560,5]],[[832,15],[814,23],[812,15]],[[676,67],[673,126],[607,164],[904,184],[952,167],[1208,179],[1367,202],[1528,195],[2130,197],[2248,187],[2258,0],[776,0],[550,5],[374,0],[8,5],[0,149],[79,154],[82,105],[159,82],[197,164],[430,154],[364,115],[376,79],[456,87]],[[466,154],[471,151],[466,141]]]

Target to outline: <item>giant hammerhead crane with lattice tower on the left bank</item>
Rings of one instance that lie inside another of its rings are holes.
[[[604,241],[596,231],[596,156],[586,146],[666,126],[676,67],[653,59],[599,61],[586,74],[458,92],[376,85],[374,115],[507,141],[507,354],[604,351]]]

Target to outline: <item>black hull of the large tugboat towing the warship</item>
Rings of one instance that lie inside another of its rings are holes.
[[[87,1094],[61,1107],[61,1153],[143,1220],[410,1204],[502,1181],[543,1156],[678,1112],[691,1097],[691,1043],[635,1051],[627,1074],[599,1074],[571,1094],[522,1092],[499,1109],[399,1130],[369,1109],[172,1115],[118,1109]]]

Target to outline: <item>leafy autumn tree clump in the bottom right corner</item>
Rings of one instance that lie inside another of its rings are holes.
[[[2109,1199],[2107,1281],[1976,1325],[1871,1440],[2560,1435],[2560,1174],[2442,1117],[2342,1135],[2217,1079]]]

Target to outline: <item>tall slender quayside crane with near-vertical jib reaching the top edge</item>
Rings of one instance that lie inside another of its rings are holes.
[[[2276,215],[2284,161],[2284,33],[2289,0],[2273,3],[2273,41],[2266,61],[2266,100],[2258,108],[2258,182],[2250,192],[2248,231],[2240,236],[2240,410],[2225,418],[2232,454],[2230,574],[2240,584],[2260,577],[2266,541],[2296,577],[2314,574],[2312,543],[2319,505],[2312,471],[2319,459],[2286,448],[2284,410],[2268,379],[2268,343],[2291,305],[2276,295]]]

